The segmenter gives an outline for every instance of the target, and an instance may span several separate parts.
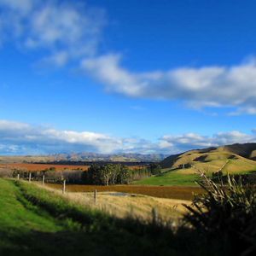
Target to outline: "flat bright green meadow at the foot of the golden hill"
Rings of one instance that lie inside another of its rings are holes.
[[[162,175],[143,178],[134,182],[137,185],[160,185],[160,186],[197,186],[195,174],[183,174],[180,171],[164,172]]]

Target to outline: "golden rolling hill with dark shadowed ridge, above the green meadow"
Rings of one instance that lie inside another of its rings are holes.
[[[198,169],[202,172],[248,172],[256,170],[256,143],[233,144],[218,148],[195,149],[167,157],[163,168]],[[195,171],[195,170],[194,170]]]

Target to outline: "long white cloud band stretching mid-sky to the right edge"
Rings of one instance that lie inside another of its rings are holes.
[[[120,55],[84,59],[81,67],[102,81],[107,90],[126,96],[179,99],[189,106],[236,107],[256,113],[256,62],[232,67],[183,67],[169,71],[132,73],[120,66]]]

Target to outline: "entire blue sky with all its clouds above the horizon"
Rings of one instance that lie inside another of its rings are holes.
[[[253,0],[0,0],[0,154],[256,142]]]

